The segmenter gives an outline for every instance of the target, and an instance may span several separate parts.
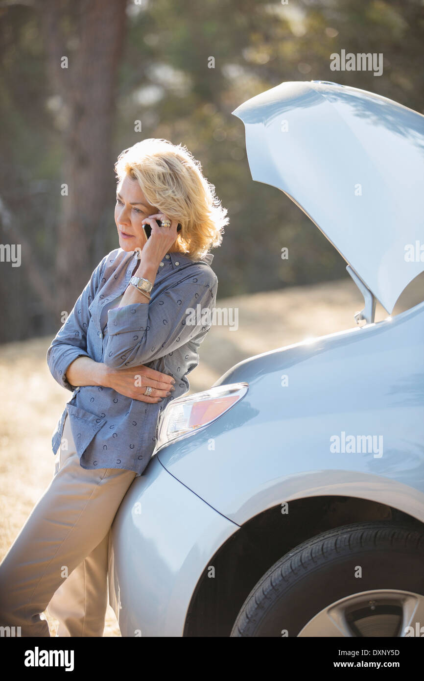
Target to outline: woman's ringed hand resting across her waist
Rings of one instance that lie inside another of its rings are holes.
[[[103,364],[103,370],[102,385],[112,387],[121,395],[140,402],[155,404],[175,390],[173,385],[175,381],[172,376],[163,374],[156,369],[150,369],[144,364],[127,369],[112,369]],[[147,386],[153,389],[150,396],[144,394]]]

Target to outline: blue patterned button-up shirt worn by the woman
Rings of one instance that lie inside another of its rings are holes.
[[[198,261],[182,253],[167,253],[148,304],[120,307],[120,296],[137,270],[138,257],[137,251],[123,249],[103,257],[47,351],[52,376],[72,392],[52,436],[54,454],[68,414],[82,468],[126,469],[137,476],[157,443],[161,411],[168,400],[190,388],[187,375],[199,364],[198,349],[212,326],[218,287],[210,267],[211,253]],[[107,319],[101,314],[103,308]],[[75,387],[65,374],[81,356],[116,369],[144,364],[174,377],[176,390],[150,404],[110,387]]]

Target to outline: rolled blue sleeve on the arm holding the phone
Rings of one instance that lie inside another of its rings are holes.
[[[182,282],[148,304],[108,311],[103,362],[116,369],[146,364],[210,328],[216,281]]]

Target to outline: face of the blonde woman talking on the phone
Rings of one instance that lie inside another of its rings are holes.
[[[146,200],[137,180],[129,175],[116,187],[115,223],[118,229],[119,245],[123,251],[143,249],[146,239],[142,224],[146,217],[159,212]]]

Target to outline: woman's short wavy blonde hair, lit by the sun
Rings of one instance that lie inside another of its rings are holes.
[[[200,259],[221,244],[229,223],[227,209],[186,146],[157,138],[137,142],[120,153],[115,172],[118,181],[126,175],[137,180],[150,205],[182,225],[176,239],[179,253]]]

